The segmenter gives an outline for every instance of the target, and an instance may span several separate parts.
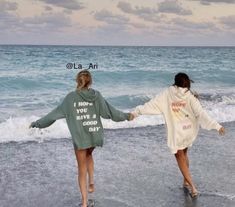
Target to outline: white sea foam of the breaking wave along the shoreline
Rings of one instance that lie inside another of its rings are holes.
[[[234,105],[204,103],[206,109],[218,122],[235,121]],[[38,116],[11,117],[0,123],[0,143],[10,141],[42,141],[45,139],[59,139],[71,137],[66,121],[64,119],[56,121],[53,125],[45,129],[29,128],[30,123],[39,119]],[[105,129],[122,129],[146,127],[164,124],[162,115],[143,115],[133,121],[114,122],[112,120],[102,119]]]

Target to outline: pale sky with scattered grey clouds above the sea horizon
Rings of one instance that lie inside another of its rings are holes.
[[[235,0],[0,0],[0,44],[235,46]]]

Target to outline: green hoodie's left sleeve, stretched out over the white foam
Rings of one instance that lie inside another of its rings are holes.
[[[48,113],[41,119],[38,119],[36,122],[33,122],[31,126],[36,128],[46,128],[52,125],[56,120],[65,118],[66,115],[63,109],[64,104],[65,104],[65,99],[59,106],[57,106],[50,113]]]

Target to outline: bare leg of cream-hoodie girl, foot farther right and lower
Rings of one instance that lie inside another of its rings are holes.
[[[197,189],[192,181],[191,174],[189,172],[188,164],[187,164],[187,158],[185,156],[185,153],[183,150],[178,150],[175,154],[179,169],[184,176],[185,181],[190,185],[192,189],[192,194],[197,193]]]

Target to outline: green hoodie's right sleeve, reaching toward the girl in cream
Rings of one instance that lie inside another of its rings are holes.
[[[125,121],[129,118],[129,113],[123,113],[115,109],[112,105],[110,105],[104,97],[99,93],[99,111],[100,116],[104,119],[112,119],[113,121]]]

